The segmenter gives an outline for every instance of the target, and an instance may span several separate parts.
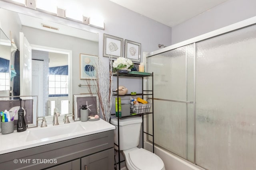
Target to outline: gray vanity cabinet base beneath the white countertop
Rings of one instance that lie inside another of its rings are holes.
[[[46,162],[40,162],[42,160]],[[0,154],[0,169],[113,170],[114,131]]]

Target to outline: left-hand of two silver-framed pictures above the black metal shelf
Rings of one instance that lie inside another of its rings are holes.
[[[113,35],[103,35],[103,56],[112,58],[123,57],[124,39],[115,37]]]

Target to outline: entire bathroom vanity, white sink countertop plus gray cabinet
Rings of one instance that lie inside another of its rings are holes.
[[[113,170],[114,129],[100,119],[1,134],[0,169]]]

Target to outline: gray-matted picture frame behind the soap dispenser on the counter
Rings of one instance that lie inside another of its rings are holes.
[[[99,107],[99,98],[97,94],[74,94],[74,121],[80,120],[80,109],[81,105],[91,105],[88,110],[88,116],[99,115],[100,116],[100,107]]]

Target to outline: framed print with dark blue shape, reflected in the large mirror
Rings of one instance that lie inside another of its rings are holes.
[[[96,79],[97,70],[96,63],[98,62],[98,56],[80,54],[80,79]]]

